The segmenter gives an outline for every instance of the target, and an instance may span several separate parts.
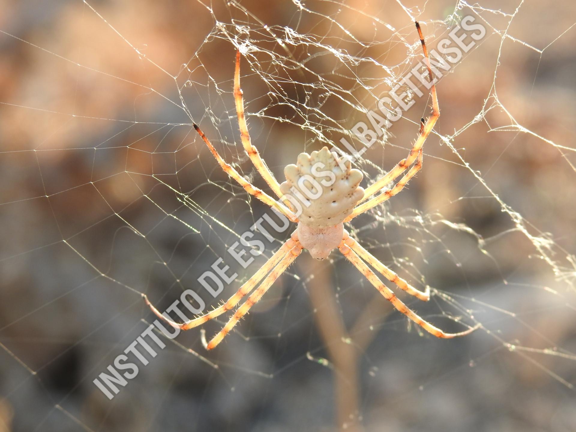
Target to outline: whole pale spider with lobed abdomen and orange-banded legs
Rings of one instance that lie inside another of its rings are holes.
[[[433,83],[428,50],[418,21],[416,21],[416,29],[418,30],[420,43],[422,43],[430,82]],[[419,324],[434,336],[437,336],[438,338],[455,338],[456,336],[468,335],[475,329],[479,328],[479,325],[476,325],[475,327],[469,327],[467,330],[458,333],[446,333],[420,318],[414,311],[409,309],[404,302],[397,298],[392,290],[382,283],[380,278],[370,270],[367,264],[380,272],[380,274],[388,279],[388,281],[394,283],[400,289],[406,291],[408,294],[414,295],[420,300],[430,300],[430,287],[427,287],[425,291],[419,291],[409,285],[408,282],[404,281],[404,279],[400,278],[400,276],[395,272],[384,266],[384,264],[382,264],[376,257],[351,238],[346,229],[344,229],[344,222],[350,221],[357,215],[364,213],[365,211],[372,209],[374,206],[392,198],[392,196],[395,196],[404,188],[408,183],[408,180],[414,177],[420,168],[422,168],[422,146],[440,115],[435,85],[431,85],[430,93],[432,97],[431,115],[426,122],[422,119],[422,122],[420,123],[419,137],[412,146],[408,157],[398,162],[392,170],[382,176],[380,180],[370,185],[366,190],[359,187],[359,183],[362,180],[362,172],[358,169],[351,168],[349,160],[342,163],[342,161],[338,159],[336,153],[329,151],[328,147],[324,147],[320,151],[313,151],[312,154],[301,153],[298,157],[297,165],[291,164],[286,166],[284,170],[286,181],[279,184],[270,169],[268,169],[264,163],[263,159],[260,157],[256,147],[252,146],[250,135],[248,133],[248,126],[244,116],[244,100],[242,97],[242,90],[240,89],[240,50],[238,50],[236,52],[236,67],[234,70],[234,101],[236,103],[236,112],[242,145],[255,165],[257,171],[262,175],[264,180],[266,180],[266,183],[270,186],[272,191],[278,195],[280,200],[276,201],[272,196],[266,194],[266,192],[260,190],[244,179],[236,169],[222,159],[198,125],[194,124],[194,128],[204,143],[209,147],[214,158],[218,161],[218,164],[226,174],[236,180],[249,194],[272,207],[272,209],[279,211],[290,219],[291,222],[298,223],[298,226],[282,247],[279,248],[278,251],[276,251],[274,255],[272,255],[270,259],[268,259],[268,261],[240,287],[240,289],[238,289],[236,294],[232,295],[228,301],[218,308],[180,324],[168,319],[167,316],[165,317],[162,315],[158,309],[149,302],[146,295],[143,295],[146,304],[150,306],[152,312],[154,312],[160,319],[172,325],[172,327],[187,330],[204,324],[206,321],[214,319],[222,313],[234,308],[234,306],[236,306],[245,295],[255,289],[262,279],[264,279],[260,286],[258,286],[256,290],[249,295],[244,304],[234,312],[228,323],[218,332],[217,335],[214,336],[213,339],[210,340],[210,342],[206,343],[204,332],[202,332],[202,342],[204,347],[207,350],[211,350],[222,342],[222,339],[230,332],[230,330],[232,330],[238,320],[247,314],[249,309],[259,301],[260,298],[262,298],[266,291],[271,287],[272,283],[274,283],[286,268],[294,262],[296,257],[300,255],[302,249],[307,249],[310,255],[316,259],[325,259],[333,249],[338,248],[348,261],[350,261],[368,279],[368,281],[372,283],[372,285],[376,287],[382,295],[384,295],[386,300],[391,302],[392,305],[399,310],[399,312],[405,314],[408,319]],[[329,172],[323,172],[320,174],[329,175],[331,172],[334,176],[332,177],[334,181],[328,186],[323,184],[321,186],[323,190],[321,191],[322,193],[319,198],[309,202],[309,207],[306,207],[299,215],[297,215],[294,211],[293,203],[286,200],[286,194],[290,190],[294,191],[294,188],[297,188],[297,191],[302,192],[302,187],[299,186],[298,180],[306,175],[310,176],[310,173],[318,175],[318,173],[314,172],[312,169],[312,166],[318,162],[330,170]],[[396,185],[385,190],[375,198],[368,199],[376,192],[384,189],[386,185],[399,177],[411,165],[412,167],[410,170],[401,177],[400,181],[398,181]],[[356,205],[362,201],[366,202],[358,206]]]

